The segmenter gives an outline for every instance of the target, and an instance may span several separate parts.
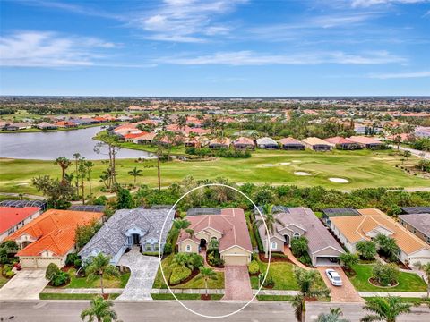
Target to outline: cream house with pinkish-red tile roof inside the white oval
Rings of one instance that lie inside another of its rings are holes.
[[[253,247],[246,225],[244,210],[221,209],[219,215],[187,216],[193,229],[192,237],[181,233],[177,239],[180,252],[199,253],[212,239],[219,241],[219,255],[224,264],[245,266],[251,262]]]

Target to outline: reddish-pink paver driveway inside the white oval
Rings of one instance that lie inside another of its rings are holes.
[[[253,298],[248,267],[228,265],[224,268],[224,297],[222,300],[249,301]]]

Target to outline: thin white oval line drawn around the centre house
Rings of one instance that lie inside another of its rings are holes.
[[[247,301],[245,303],[245,305],[243,307],[241,307],[240,309],[236,309],[233,312],[230,312],[228,314],[222,315],[222,316],[209,316],[209,315],[205,315],[199,312],[194,311],[193,309],[188,308],[182,301],[179,301],[176,298],[175,293],[170,289],[170,286],[168,285],[168,281],[166,280],[166,276],[164,275],[164,271],[163,271],[163,266],[161,263],[161,239],[163,236],[163,231],[164,231],[164,226],[166,225],[166,223],[168,222],[168,217],[170,216],[170,213],[173,211],[173,209],[176,208],[176,205],[182,200],[184,199],[189,193],[197,190],[197,189],[202,189],[205,187],[213,187],[213,186],[219,186],[219,187],[226,187],[226,188],[230,188],[236,192],[239,192],[242,196],[244,196],[246,199],[248,199],[254,206],[255,209],[257,209],[258,213],[260,214],[260,216],[262,217],[262,223],[264,224],[264,228],[266,229],[266,233],[267,233],[267,240],[266,241],[270,241],[271,240],[271,236],[270,236],[270,232],[269,232],[269,228],[266,225],[266,220],[264,219],[264,216],[262,216],[262,212],[260,211],[260,209],[254,204],[254,201],[252,199],[250,199],[248,196],[245,195],[244,192],[237,190],[234,187],[231,187],[227,184],[222,184],[222,183],[207,183],[207,184],[202,184],[201,186],[195,187],[193,188],[191,191],[185,192],[184,195],[182,195],[181,198],[177,199],[175,204],[172,206],[172,208],[170,208],[170,210],[168,211],[168,216],[166,216],[166,219],[164,219],[164,223],[163,226],[161,227],[161,232],[159,233],[159,268],[161,270],[161,275],[163,275],[163,280],[164,283],[166,284],[166,286],[168,286],[168,291],[173,295],[173,297],[175,298],[176,301],[179,302],[179,304],[181,304],[185,309],[187,309],[188,311],[190,311],[191,313],[202,317],[202,318],[228,318],[238,312],[240,312],[242,309],[245,309],[249,304],[251,304],[252,301],[255,300],[255,298],[257,297],[258,293],[262,290],[262,285],[264,284],[264,282],[266,281],[266,277],[267,275],[269,275],[269,268],[271,267],[271,249],[269,247],[269,242],[266,242],[266,249],[269,250],[269,259],[268,259],[268,263],[267,263],[267,269],[266,269],[266,273],[264,275],[264,278],[262,280],[262,284],[260,285],[259,289],[257,290],[257,292],[255,293],[255,295],[253,296],[253,298],[250,301]],[[175,247],[175,245],[172,245],[172,247]]]

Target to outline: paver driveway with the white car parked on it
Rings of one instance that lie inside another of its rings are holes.
[[[342,286],[333,286],[331,285],[327,275],[325,275],[325,270],[327,268],[334,269],[340,275],[342,279]],[[323,276],[324,283],[327,285],[331,292],[331,301],[332,302],[364,302],[364,300],[358,295],[358,292],[354,288],[354,285],[349,282],[347,275],[340,267],[317,267],[320,274]]]

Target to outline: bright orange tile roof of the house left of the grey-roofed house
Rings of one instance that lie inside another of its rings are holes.
[[[7,239],[16,240],[22,234],[29,234],[37,239],[36,242],[31,242],[20,250],[17,256],[39,256],[44,250],[63,256],[73,248],[76,227],[89,225],[93,220],[99,220],[102,215],[102,213],[86,211],[50,209]]]

